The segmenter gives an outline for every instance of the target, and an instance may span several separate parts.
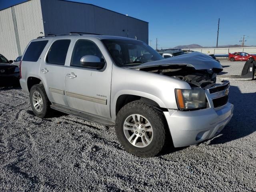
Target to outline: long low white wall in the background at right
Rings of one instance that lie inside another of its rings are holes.
[[[248,54],[256,54],[256,47],[244,47],[244,48],[204,48],[204,49],[190,49],[205,54],[214,54],[216,56],[227,56],[228,53],[234,52],[246,52]]]

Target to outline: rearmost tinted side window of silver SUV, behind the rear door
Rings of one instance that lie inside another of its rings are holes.
[[[31,42],[23,56],[23,61],[38,61],[47,43],[48,40]]]

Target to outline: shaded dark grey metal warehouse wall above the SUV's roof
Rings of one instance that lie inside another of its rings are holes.
[[[91,4],[41,0],[41,6],[45,34],[87,32],[130,38],[136,36],[148,44],[148,22]]]

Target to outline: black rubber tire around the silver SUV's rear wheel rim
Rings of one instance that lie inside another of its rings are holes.
[[[34,94],[34,92],[39,92],[39,94],[42,97],[42,111],[38,112],[36,110],[36,108],[34,107],[33,101],[32,101],[32,96]],[[31,87],[30,89],[30,94],[29,94],[29,99],[30,99],[30,105],[31,108],[34,112],[34,114],[40,118],[45,118],[50,114],[51,108],[50,108],[50,101],[46,95],[45,89],[44,89],[44,85],[43,84],[35,84]]]

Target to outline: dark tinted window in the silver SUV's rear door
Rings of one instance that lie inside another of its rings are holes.
[[[70,44],[69,39],[56,40],[52,44],[48,52],[48,55],[46,57],[46,62],[50,64],[64,65],[69,44]]]

